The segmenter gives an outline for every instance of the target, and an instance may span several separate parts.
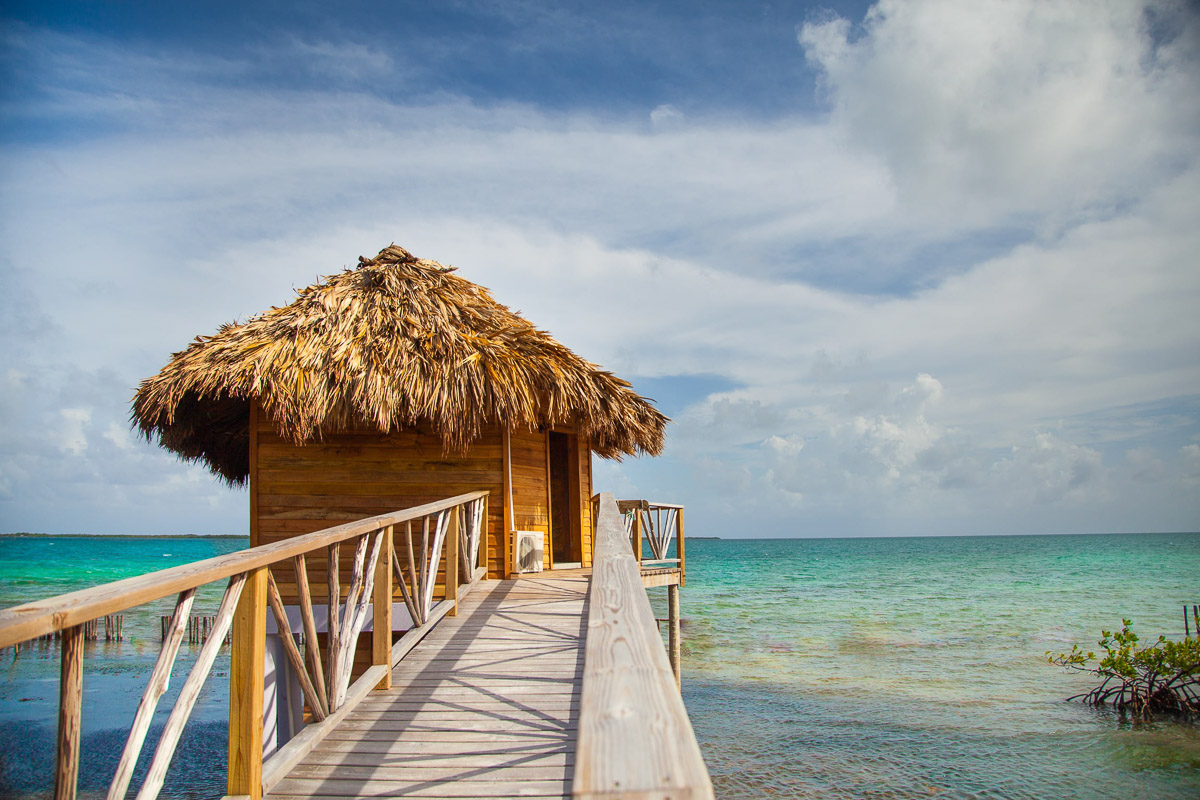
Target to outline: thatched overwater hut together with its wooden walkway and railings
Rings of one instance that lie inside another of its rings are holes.
[[[656,455],[667,419],[487,289],[385,247],[198,337],[133,420],[248,485],[251,547],[0,610],[0,648],[60,637],[56,800],[78,784],[86,631],[178,595],[124,800],[210,583],[138,800],[186,757],[227,636],[229,796],[713,796],[678,693],[683,507],[593,487],[593,453]]]

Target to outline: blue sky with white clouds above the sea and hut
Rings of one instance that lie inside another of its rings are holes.
[[[0,530],[245,533],[130,431],[395,241],[674,419],[692,534],[1200,529],[1200,12],[6,2]]]

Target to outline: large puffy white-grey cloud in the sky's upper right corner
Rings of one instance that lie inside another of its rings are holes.
[[[860,28],[809,23],[799,42],[834,124],[884,155],[905,203],[965,225],[1062,224],[1195,146],[1196,34],[1172,0],[882,0]]]

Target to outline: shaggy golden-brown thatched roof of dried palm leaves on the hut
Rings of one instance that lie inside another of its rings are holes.
[[[452,273],[395,245],[282,308],[197,337],[133,398],[142,433],[248,475],[250,403],[304,444],[361,427],[424,427],[448,452],[484,426],[574,425],[607,458],[658,455],[667,417],[630,385]]]

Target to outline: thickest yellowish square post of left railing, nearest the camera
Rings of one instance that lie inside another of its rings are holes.
[[[227,794],[263,796],[263,667],[266,661],[266,567],[246,573],[229,654]]]

